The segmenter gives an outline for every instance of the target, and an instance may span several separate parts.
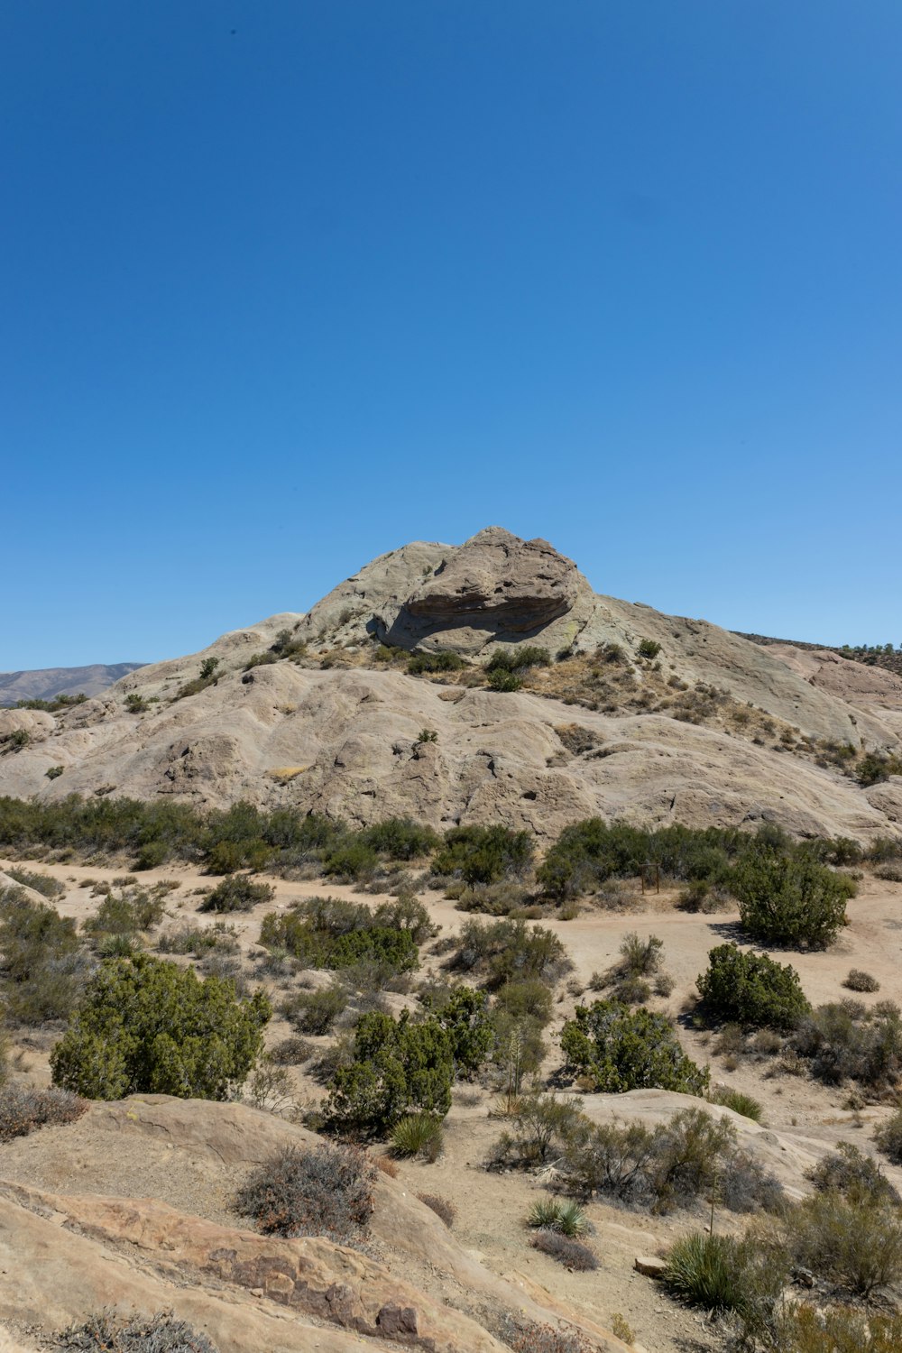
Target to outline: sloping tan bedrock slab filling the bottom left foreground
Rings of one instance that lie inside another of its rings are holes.
[[[319,1238],[261,1237],[223,1216],[223,1197],[242,1172],[277,1146],[315,1141],[246,1105],[147,1096],[92,1105],[69,1127],[9,1143],[0,1184],[0,1321],[46,1331],[103,1306],[142,1314],[172,1307],[220,1353],[345,1353],[361,1346],[361,1335],[375,1349],[502,1353],[487,1321],[557,1323],[567,1315],[526,1280],[485,1269],[434,1212],[381,1174],[366,1253]],[[197,1211],[115,1196],[127,1178],[189,1193]],[[49,1189],[50,1181],[68,1187]],[[614,1335],[579,1327],[599,1353],[622,1353]]]

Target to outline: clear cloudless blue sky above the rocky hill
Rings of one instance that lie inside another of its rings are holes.
[[[902,643],[899,0],[5,0],[0,668],[488,524]]]

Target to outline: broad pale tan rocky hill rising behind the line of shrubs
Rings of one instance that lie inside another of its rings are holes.
[[[506,682],[487,671],[499,648],[529,659]],[[546,541],[490,528],[404,545],[303,616],[77,708],[0,712],[0,793],[250,798],[545,838],[598,813],[868,839],[898,833],[902,778],[865,786],[856,766],[876,752],[894,770],[901,733],[895,674],[596,595]]]

